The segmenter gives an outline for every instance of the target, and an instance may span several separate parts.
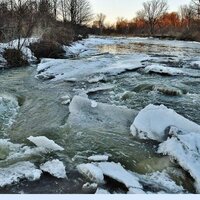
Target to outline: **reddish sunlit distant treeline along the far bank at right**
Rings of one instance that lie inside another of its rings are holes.
[[[132,20],[118,18],[112,25],[105,24],[106,16],[99,14],[93,22],[93,34],[158,36],[200,41],[200,0],[182,5],[179,12],[168,12],[166,0],[150,0]]]

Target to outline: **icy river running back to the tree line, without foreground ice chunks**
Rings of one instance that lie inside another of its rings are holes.
[[[92,189],[82,189],[87,180],[76,166],[86,162],[91,155],[104,154],[109,155],[111,161],[141,174],[172,167],[184,174],[184,177],[176,176],[174,179],[194,193],[193,179],[167,156],[156,153],[157,142],[135,139],[130,134],[129,127],[134,118],[129,119],[122,130],[117,125],[118,116],[110,117],[109,123],[114,125],[108,126],[100,113],[94,114],[80,105],[82,115],[88,116],[88,119],[84,119],[81,126],[70,126],[69,105],[62,103],[62,98],[69,95],[72,99],[80,94],[86,98],[87,95],[89,99],[106,105],[125,106],[136,114],[149,104],[164,104],[200,124],[200,44],[111,37],[92,37],[80,44],[86,49],[78,49],[75,58],[59,60],[60,63],[53,59],[44,60],[43,64],[48,66],[45,70],[37,71],[37,65],[31,65],[0,71],[0,97],[7,99],[0,102],[1,139],[33,147],[27,140],[29,136],[46,136],[64,148],[62,152],[20,155],[10,160],[5,155],[0,160],[0,167],[6,168],[21,161],[39,166],[57,158],[66,166],[68,176],[68,179],[57,179],[43,173],[37,181],[22,179],[0,188],[0,193],[94,193]],[[55,66],[48,65],[48,62],[55,62]],[[93,69],[94,63],[98,66],[95,64]],[[62,67],[59,68],[59,65]],[[79,65],[82,67],[79,68]],[[161,65],[181,70],[181,73],[171,73],[170,70],[166,73],[162,70],[147,72],[144,67],[149,65]],[[70,69],[66,71],[68,66]],[[52,67],[55,68],[52,70]],[[87,67],[89,72],[85,70]],[[74,68],[76,71],[73,71]],[[53,78],[44,79],[45,73],[53,74]],[[112,109],[108,113],[114,115]],[[100,126],[90,124],[94,115],[99,118]],[[0,150],[4,154],[5,149]],[[108,181],[106,187],[110,191],[125,193],[112,181]]]

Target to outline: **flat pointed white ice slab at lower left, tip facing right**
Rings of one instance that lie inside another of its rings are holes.
[[[43,147],[48,150],[53,150],[53,151],[64,150],[63,147],[57,145],[53,140],[50,140],[45,136],[37,136],[37,137],[30,136],[27,139],[33,142],[36,146]]]

